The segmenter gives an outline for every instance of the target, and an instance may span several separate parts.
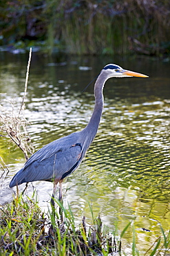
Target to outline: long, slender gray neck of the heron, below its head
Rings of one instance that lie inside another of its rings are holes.
[[[87,127],[85,127],[84,131],[86,131],[88,134],[90,134],[90,138],[93,140],[96,132],[98,130],[98,125],[100,123],[100,118],[102,116],[103,111],[103,87],[105,84],[105,81],[107,78],[105,75],[100,73],[98,76],[98,79],[96,80],[96,83],[94,85],[94,97],[95,97],[95,105],[94,105],[94,111],[92,113],[92,117],[89,120],[89,123],[87,124]],[[88,136],[87,134],[87,136]],[[89,142],[89,143],[92,143]]]

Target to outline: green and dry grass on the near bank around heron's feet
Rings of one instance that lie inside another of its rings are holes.
[[[34,195],[33,195],[34,196]],[[136,231],[129,222],[120,234],[108,232],[103,227],[100,216],[94,218],[92,207],[92,224],[87,224],[83,217],[79,226],[75,224],[70,205],[67,209],[56,201],[55,212],[41,212],[37,201],[17,196],[12,203],[0,208],[0,255],[126,255],[121,252],[121,239],[128,228],[132,228],[131,255],[140,255],[136,248]],[[63,212],[63,219],[59,214]],[[168,255],[170,233],[166,236],[162,227],[162,237],[158,237],[144,255]],[[162,246],[160,246],[162,241]],[[160,254],[160,252],[163,252]]]

